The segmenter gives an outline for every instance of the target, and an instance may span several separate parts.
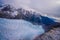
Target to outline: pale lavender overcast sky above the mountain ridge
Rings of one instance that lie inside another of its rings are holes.
[[[1,0],[4,4],[11,4],[16,8],[34,9],[43,15],[60,18],[60,0]]]

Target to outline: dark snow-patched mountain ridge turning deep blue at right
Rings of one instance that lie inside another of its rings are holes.
[[[15,9],[10,5],[4,5],[0,10],[0,17],[9,19],[23,19],[37,24],[53,24],[55,20],[46,16],[42,16],[35,11],[26,10],[24,8]]]

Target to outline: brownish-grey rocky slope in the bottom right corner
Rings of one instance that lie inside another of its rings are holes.
[[[44,33],[35,40],[60,40],[60,27]]]

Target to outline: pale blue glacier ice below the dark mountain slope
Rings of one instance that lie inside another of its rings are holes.
[[[0,18],[1,40],[32,40],[44,33],[42,25],[33,25],[25,20],[12,20]]]

